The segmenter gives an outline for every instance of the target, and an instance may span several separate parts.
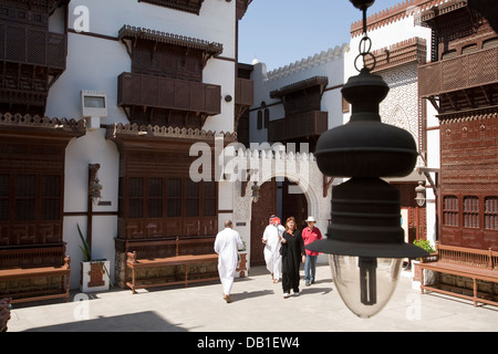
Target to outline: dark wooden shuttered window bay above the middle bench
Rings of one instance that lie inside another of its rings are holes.
[[[155,176],[122,179],[120,238],[153,239],[218,232],[216,183]]]

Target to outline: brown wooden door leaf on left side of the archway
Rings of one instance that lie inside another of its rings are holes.
[[[263,266],[264,244],[261,242],[269,217],[277,212],[277,183],[274,179],[264,183],[259,190],[259,200],[252,204],[251,215],[251,258],[250,264]]]

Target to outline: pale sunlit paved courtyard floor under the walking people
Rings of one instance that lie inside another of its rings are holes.
[[[71,302],[14,304],[9,332],[496,332],[498,308],[474,308],[469,301],[436,293],[421,295],[407,272],[387,305],[364,320],[344,305],[328,266],[300,296],[283,299],[264,267],[236,279],[232,303],[221,299],[221,284],[189,288],[124,289],[83,294]],[[302,274],[301,270],[301,274]],[[219,335],[219,333],[218,333]]]

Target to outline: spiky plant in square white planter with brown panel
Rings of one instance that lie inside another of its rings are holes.
[[[83,261],[81,262],[81,279],[80,279],[80,290],[82,292],[93,292],[93,291],[106,291],[111,281],[108,273],[108,268],[111,262],[105,259],[92,259],[92,249],[87,240],[83,237],[81,232],[80,225],[77,226],[77,233],[82,241],[80,249],[83,252]]]

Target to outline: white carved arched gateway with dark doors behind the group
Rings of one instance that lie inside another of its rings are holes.
[[[282,221],[289,216],[304,220],[314,216],[326,230],[330,218],[330,184],[311,153],[243,150],[236,154],[239,170],[249,171],[247,180],[235,183],[234,220],[246,242],[250,266],[263,263],[261,237],[271,214]],[[255,201],[251,187],[258,185]]]

